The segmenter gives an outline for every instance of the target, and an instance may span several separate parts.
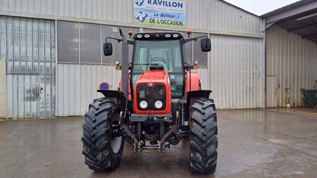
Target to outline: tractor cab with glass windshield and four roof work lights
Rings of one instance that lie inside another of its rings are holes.
[[[134,89],[139,75],[150,67],[163,67],[168,72],[171,97],[184,96],[185,51],[183,34],[178,32],[136,33],[131,64],[131,88]],[[133,92],[133,91],[132,91]]]

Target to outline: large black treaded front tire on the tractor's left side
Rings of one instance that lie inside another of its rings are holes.
[[[96,171],[114,170],[121,162],[124,148],[122,137],[112,137],[113,125],[118,125],[122,111],[116,98],[94,99],[85,114],[82,124],[82,154],[89,169]]]

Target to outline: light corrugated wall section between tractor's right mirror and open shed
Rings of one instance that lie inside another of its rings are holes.
[[[211,35],[211,98],[219,109],[264,107],[263,40],[229,35]]]

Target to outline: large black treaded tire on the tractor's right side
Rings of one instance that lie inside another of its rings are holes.
[[[213,99],[193,98],[190,104],[190,169],[214,173],[217,166],[217,115]]]

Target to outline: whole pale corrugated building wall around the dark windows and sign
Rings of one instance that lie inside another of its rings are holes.
[[[264,107],[262,19],[223,1],[179,1],[186,3],[185,29],[134,24],[133,0],[1,0],[0,15],[210,34],[208,67],[197,70],[202,88],[213,91],[218,109]],[[84,115],[105,79],[112,89],[119,85],[113,65],[56,64],[56,116]]]

